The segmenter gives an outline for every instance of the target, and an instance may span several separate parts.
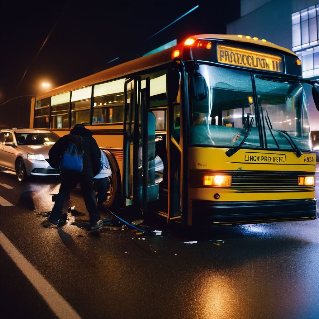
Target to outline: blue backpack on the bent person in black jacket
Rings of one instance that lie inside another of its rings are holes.
[[[83,169],[82,137],[79,135],[70,135],[69,144],[62,153],[60,167],[62,171],[81,172]]]

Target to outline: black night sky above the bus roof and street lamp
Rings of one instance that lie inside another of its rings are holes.
[[[196,5],[198,9],[145,41]],[[16,94],[23,73],[62,12]],[[1,1],[0,14],[1,104],[19,95],[40,93],[42,82],[59,86],[176,38],[226,33],[226,23],[240,17],[240,1]]]

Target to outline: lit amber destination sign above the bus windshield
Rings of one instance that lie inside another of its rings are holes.
[[[217,60],[220,63],[258,70],[283,72],[282,57],[249,49],[217,45]]]

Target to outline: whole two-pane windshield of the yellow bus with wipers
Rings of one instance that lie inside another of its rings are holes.
[[[207,95],[204,100],[192,99],[191,144],[237,147],[248,134],[242,147],[260,148],[255,118],[259,106],[266,148],[294,149],[295,144],[311,150],[308,108],[300,82],[255,75],[255,101],[250,72],[209,65],[200,65],[198,72],[206,81]]]

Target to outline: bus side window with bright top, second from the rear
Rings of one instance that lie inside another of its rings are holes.
[[[70,92],[51,97],[51,129],[69,128]]]

